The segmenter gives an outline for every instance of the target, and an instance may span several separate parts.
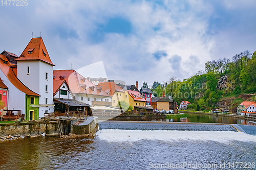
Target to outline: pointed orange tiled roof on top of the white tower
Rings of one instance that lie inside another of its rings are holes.
[[[29,52],[31,51],[32,53],[29,54]],[[46,56],[44,56],[44,53],[46,54]],[[25,50],[23,51],[22,55],[20,55],[16,60],[41,60],[51,65],[54,65],[47,53],[45,43],[44,41],[42,41],[41,37],[32,38]]]

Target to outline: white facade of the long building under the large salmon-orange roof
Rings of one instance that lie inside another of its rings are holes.
[[[88,98],[89,98],[89,101],[88,101]],[[92,105],[92,101],[101,101],[102,100],[102,102],[111,102],[111,97],[110,96],[102,96],[102,95],[76,93],[75,100]]]

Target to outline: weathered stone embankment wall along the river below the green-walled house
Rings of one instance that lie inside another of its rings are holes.
[[[39,135],[58,133],[56,123],[15,123],[0,124],[0,137],[8,135]]]

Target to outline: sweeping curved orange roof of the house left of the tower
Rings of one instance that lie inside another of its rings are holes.
[[[0,57],[2,58],[3,55],[0,54]],[[5,56],[4,56],[5,57]],[[11,67],[12,64],[10,64],[9,62],[7,62],[7,64],[4,64],[4,62],[2,60],[0,60],[0,68],[1,70],[4,72],[5,76],[10,80],[10,82],[20,91],[25,92],[28,95],[36,95],[36,96],[40,96],[39,94],[33,92],[32,90],[30,90],[27,86],[25,86],[21,81],[19,81],[19,79],[15,76],[13,70]]]

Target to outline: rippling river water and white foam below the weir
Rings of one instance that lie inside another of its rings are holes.
[[[122,130],[76,139],[25,138],[0,143],[0,169],[150,169],[150,162],[253,162],[255,138],[239,132]]]

